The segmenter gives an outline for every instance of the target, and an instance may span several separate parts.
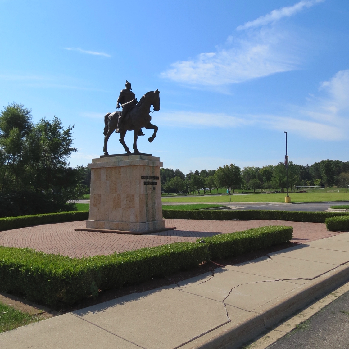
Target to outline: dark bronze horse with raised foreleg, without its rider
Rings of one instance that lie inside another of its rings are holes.
[[[148,138],[149,142],[153,142],[156,137],[156,132],[158,127],[156,125],[151,124],[151,116],[150,116],[150,106],[153,105],[153,111],[160,110],[160,91],[149,91],[147,92],[140,101],[131,109],[126,115],[125,119],[122,120],[121,125],[119,126],[120,132],[120,143],[124,147],[127,154],[131,154],[131,151],[127,147],[124,138],[126,131],[134,131],[133,136],[133,154],[139,154],[139,150],[137,149],[137,139],[138,132],[141,127],[144,128],[153,128],[154,133],[151,137]],[[104,155],[109,155],[107,151],[107,143],[110,135],[116,130],[118,125],[118,117],[120,116],[119,111],[114,111],[113,113],[106,113],[104,116]]]

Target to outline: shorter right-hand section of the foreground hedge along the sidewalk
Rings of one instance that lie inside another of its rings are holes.
[[[205,241],[208,244],[211,259],[216,260],[289,242],[292,239],[292,232],[293,227],[276,225],[220,234],[196,241]]]

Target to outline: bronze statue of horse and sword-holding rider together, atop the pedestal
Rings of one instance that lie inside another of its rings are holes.
[[[149,142],[153,142],[156,137],[158,127],[151,124],[150,113],[160,110],[160,91],[147,92],[139,102],[135,94],[131,91],[131,83],[126,80],[126,89],[121,90],[120,96],[117,101],[117,109],[122,107],[120,111],[114,111],[113,113],[106,113],[104,116],[104,155],[109,155],[107,151],[107,143],[110,135],[115,131],[120,133],[120,143],[124,147],[127,154],[131,154],[131,151],[127,147],[124,138],[126,131],[134,131],[133,136],[133,154],[139,154],[137,149],[138,136],[144,136],[142,127],[153,128],[154,133],[148,138]],[[153,111],[150,111],[150,106],[153,106]]]

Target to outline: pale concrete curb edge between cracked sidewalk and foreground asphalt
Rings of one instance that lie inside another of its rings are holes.
[[[248,341],[272,329],[283,319],[310,305],[349,281],[349,262],[340,265],[309,283],[300,285],[283,297],[276,298],[253,311],[241,323],[229,322],[178,348],[183,349],[237,349]]]

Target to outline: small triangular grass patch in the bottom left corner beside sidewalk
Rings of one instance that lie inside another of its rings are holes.
[[[42,320],[40,315],[29,315],[0,302],[0,332]]]

